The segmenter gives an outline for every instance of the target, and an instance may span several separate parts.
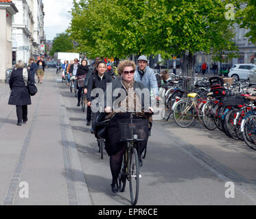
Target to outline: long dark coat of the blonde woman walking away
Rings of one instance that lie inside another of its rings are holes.
[[[34,78],[28,73],[28,81],[34,82]],[[27,87],[23,80],[23,68],[18,68],[12,72],[10,77],[10,99],[8,104],[10,105],[30,105],[31,99]]]

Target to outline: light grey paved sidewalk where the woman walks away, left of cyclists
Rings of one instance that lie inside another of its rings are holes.
[[[21,127],[8,97],[0,102],[1,203],[91,205],[56,77],[48,70],[37,86]]]

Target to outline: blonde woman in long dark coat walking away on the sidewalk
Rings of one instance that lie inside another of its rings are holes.
[[[32,81],[34,79],[31,77],[30,73],[27,73],[27,79],[23,79],[23,61],[19,60],[16,64],[16,70],[12,71],[10,77],[10,89],[12,90],[10,94],[10,99],[8,104],[16,105],[16,114],[18,118],[17,125],[21,125],[27,122],[27,105],[31,105],[30,94],[28,92],[27,86],[25,86],[25,81]]]

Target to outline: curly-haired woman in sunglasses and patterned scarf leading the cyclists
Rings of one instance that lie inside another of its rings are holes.
[[[108,97],[106,97],[105,112],[109,113],[106,118],[111,118],[108,126],[108,137],[106,138],[106,152],[110,156],[110,170],[112,174],[111,189],[114,193],[118,190],[117,177],[121,170],[121,163],[126,146],[126,142],[120,142],[121,133],[119,130],[119,120],[129,120],[130,113],[127,111],[130,111],[128,109],[131,109],[131,107],[133,111],[139,111],[135,113],[134,118],[148,119],[150,116],[150,110],[153,112],[152,107],[149,107],[150,94],[139,94],[139,91],[142,91],[144,86],[141,82],[137,82],[134,80],[135,69],[135,62],[129,60],[121,61],[117,68],[117,71],[119,75],[121,75],[121,77],[115,79],[115,81],[113,81],[112,83],[111,99],[108,99]],[[145,90],[147,89],[144,89],[143,91],[145,92]],[[118,96],[115,96],[115,94],[118,94]],[[146,103],[148,103],[148,105]],[[125,108],[127,109],[125,109],[126,112],[124,112],[122,106],[125,106]],[[120,110],[118,110],[118,108]],[[141,110],[143,108],[145,108],[145,112],[144,110]],[[149,113],[146,113],[146,111],[148,111]],[[146,142],[141,142],[139,147],[140,166],[142,166],[142,162],[140,159],[141,153],[143,152],[145,147]]]

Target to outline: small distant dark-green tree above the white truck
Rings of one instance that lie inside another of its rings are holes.
[[[54,55],[55,52],[72,52],[74,51],[73,42],[67,33],[57,34],[54,38],[52,49],[49,55]]]

